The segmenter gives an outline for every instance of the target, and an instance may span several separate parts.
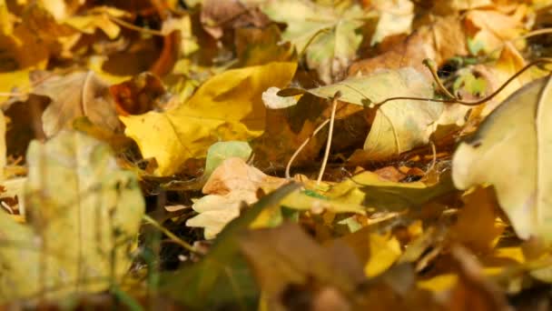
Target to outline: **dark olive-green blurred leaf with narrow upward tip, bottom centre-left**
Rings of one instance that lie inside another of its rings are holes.
[[[202,261],[161,276],[159,290],[176,301],[195,309],[216,306],[257,306],[259,289],[240,252],[239,236],[266,208],[276,206],[297,185],[282,186],[251,206],[226,226]],[[186,288],[182,291],[182,288]]]

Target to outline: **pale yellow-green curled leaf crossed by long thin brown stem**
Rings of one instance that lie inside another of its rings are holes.
[[[356,105],[370,105],[396,96],[431,98],[433,95],[424,75],[409,67],[350,77],[333,85],[311,89],[309,93],[331,98],[338,91],[341,94],[340,101]],[[364,150],[351,157],[352,163],[388,159],[428,144],[443,105],[401,99],[380,105],[374,110],[376,116],[364,142]]]

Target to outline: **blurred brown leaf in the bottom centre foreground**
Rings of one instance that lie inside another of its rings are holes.
[[[312,294],[330,286],[350,297],[363,280],[362,267],[348,246],[324,248],[295,224],[251,231],[240,246],[271,309],[286,305],[281,297],[291,286]]]

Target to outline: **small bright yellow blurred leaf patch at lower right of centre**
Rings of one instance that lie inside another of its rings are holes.
[[[401,254],[399,240],[395,236],[370,235],[370,259],[364,266],[368,277],[378,276],[389,269]]]

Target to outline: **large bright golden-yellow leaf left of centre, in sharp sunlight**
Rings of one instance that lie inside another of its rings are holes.
[[[121,116],[124,133],[136,141],[144,158],[157,160],[157,175],[173,175],[187,159],[205,156],[217,141],[261,135],[262,92],[289,84],[296,67],[296,63],[275,62],[228,70],[213,76],[173,110]]]

